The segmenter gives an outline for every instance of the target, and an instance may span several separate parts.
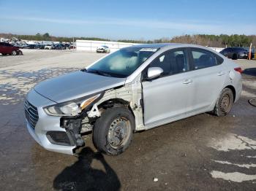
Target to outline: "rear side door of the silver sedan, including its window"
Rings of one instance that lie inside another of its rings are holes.
[[[206,112],[217,100],[225,83],[223,59],[213,52],[200,48],[189,49],[193,81],[190,112]]]

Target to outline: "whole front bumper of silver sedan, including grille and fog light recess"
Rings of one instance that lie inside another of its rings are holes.
[[[81,120],[45,114],[42,108],[50,104],[55,103],[31,90],[25,101],[26,128],[45,149],[73,155],[76,148],[84,145],[80,136]]]

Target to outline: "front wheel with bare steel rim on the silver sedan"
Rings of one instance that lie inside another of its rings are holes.
[[[107,109],[95,122],[94,146],[107,155],[119,155],[129,147],[134,130],[135,118],[129,109]]]

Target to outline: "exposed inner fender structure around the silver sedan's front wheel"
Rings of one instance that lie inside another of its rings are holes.
[[[135,116],[135,130],[145,129],[143,125],[142,88],[139,79],[138,82],[135,81],[129,85],[105,90],[97,95],[99,95],[97,99],[91,101],[86,108],[81,109],[79,114],[61,117],[60,126],[64,128],[67,134],[61,142],[69,146],[75,146],[74,153],[85,145],[83,136],[91,133],[95,122],[106,109],[127,107]],[[80,107],[81,105],[82,103],[79,104]]]

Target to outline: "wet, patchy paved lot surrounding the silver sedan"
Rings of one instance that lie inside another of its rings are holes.
[[[29,136],[24,94],[103,54],[23,52],[0,55],[1,190],[255,190],[256,107],[248,100],[256,98],[256,61],[236,61],[246,69],[244,90],[228,116],[200,114],[136,133],[127,152],[116,157],[97,153],[87,136],[74,157],[48,152]]]

